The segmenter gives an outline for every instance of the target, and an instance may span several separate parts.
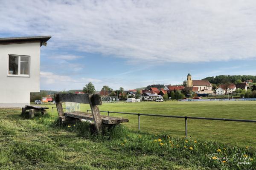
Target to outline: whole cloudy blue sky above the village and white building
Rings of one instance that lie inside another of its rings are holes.
[[[41,35],[41,90],[256,75],[255,0],[0,0],[0,37]]]

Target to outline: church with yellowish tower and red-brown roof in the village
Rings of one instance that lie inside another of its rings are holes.
[[[208,80],[192,80],[191,74],[187,75],[185,91],[193,91],[199,94],[212,93],[212,84]]]

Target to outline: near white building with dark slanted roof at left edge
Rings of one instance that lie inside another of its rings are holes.
[[[40,50],[51,36],[0,38],[0,108],[29,105],[40,91]]]

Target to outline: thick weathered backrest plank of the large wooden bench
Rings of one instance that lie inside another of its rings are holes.
[[[76,102],[90,104],[89,96],[92,96],[94,105],[102,105],[102,100],[99,94],[55,94],[56,99],[60,102]]]

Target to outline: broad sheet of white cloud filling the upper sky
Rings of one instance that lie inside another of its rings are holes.
[[[2,0],[0,32],[140,64],[228,61],[256,58],[255,16],[255,0]]]

